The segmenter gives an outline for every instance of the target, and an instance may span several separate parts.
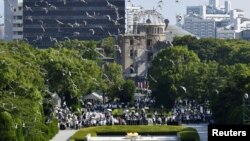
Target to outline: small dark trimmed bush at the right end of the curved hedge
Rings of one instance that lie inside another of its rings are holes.
[[[180,141],[200,141],[200,136],[196,131],[181,131],[177,133]]]

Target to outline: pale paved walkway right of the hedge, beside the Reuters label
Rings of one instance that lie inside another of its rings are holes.
[[[197,130],[200,136],[200,141],[207,141],[208,140],[208,125],[207,124],[184,124],[184,126],[192,127]]]

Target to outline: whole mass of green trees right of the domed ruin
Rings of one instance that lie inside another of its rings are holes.
[[[242,96],[250,91],[250,43],[184,36],[173,44],[154,58],[149,70],[158,106],[171,108],[179,97],[209,100],[216,123],[242,123]]]

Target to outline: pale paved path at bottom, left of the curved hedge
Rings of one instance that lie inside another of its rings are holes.
[[[69,138],[78,130],[60,130],[50,141],[69,141]]]

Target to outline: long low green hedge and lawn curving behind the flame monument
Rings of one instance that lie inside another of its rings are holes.
[[[126,135],[129,132],[137,132],[139,135],[177,135],[182,131],[193,132],[195,135],[197,131],[194,128],[184,126],[169,126],[169,125],[115,125],[115,126],[96,126],[89,128],[82,128],[71,136],[70,141],[85,141],[87,134],[91,136],[98,135]],[[181,135],[181,134],[180,134]],[[186,134],[185,134],[186,135]],[[199,135],[198,135],[199,137]],[[197,138],[197,137],[194,137]],[[199,141],[199,140],[194,140]]]

